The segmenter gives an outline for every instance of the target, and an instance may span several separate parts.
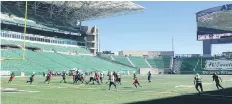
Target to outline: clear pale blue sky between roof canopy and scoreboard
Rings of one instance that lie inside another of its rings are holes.
[[[99,28],[100,51],[171,51],[175,54],[202,54],[196,40],[195,13],[232,2],[134,2],[144,12],[83,22]],[[212,53],[232,51],[232,44],[213,45]]]

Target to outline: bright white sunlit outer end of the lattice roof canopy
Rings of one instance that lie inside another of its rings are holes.
[[[144,7],[130,1],[44,1],[60,9],[72,12],[72,17],[81,20],[91,20],[131,12],[141,12]]]

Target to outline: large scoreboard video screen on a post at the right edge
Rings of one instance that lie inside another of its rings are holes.
[[[232,4],[200,11],[197,16],[197,40],[232,37]]]

